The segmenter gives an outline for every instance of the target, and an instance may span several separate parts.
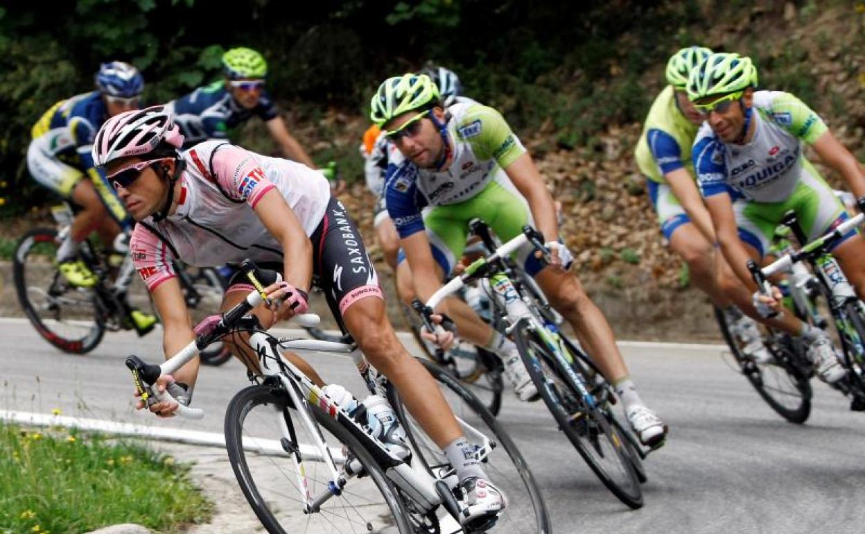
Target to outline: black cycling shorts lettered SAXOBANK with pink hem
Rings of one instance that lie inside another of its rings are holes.
[[[312,272],[327,299],[330,312],[345,333],[343,314],[349,306],[367,297],[384,299],[379,286],[378,273],[361,241],[361,233],[349,218],[343,203],[331,197],[320,222],[310,236],[312,241]],[[285,266],[265,262],[262,268],[282,273]],[[228,281],[226,293],[249,292],[243,273],[234,273]]]

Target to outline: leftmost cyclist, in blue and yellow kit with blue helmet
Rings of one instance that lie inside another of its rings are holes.
[[[28,169],[35,181],[80,207],[57,251],[61,274],[80,287],[92,287],[97,280],[77,258],[79,243],[96,230],[109,245],[121,227],[131,228],[131,220],[106,183],[105,173],[93,164],[90,149],[99,126],[107,119],[138,109],[144,78],[130,64],[111,61],[101,65],[95,84],[95,91],[61,100],[43,113],[33,126],[27,151]],[[138,312],[136,317],[143,323],[153,320]]]

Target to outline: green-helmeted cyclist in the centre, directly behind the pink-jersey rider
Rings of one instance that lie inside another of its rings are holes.
[[[638,396],[603,313],[567,273],[572,256],[559,239],[553,198],[502,115],[477,103],[454,104],[445,112],[428,76],[405,74],[381,84],[370,117],[405,158],[389,166],[385,185],[388,213],[407,259],[397,267],[398,280],[410,276],[414,293],[426,301],[462,254],[471,219],[483,219],[503,241],[524,224],[535,225],[553,251],[553,265],[542,266],[531,248],[519,251],[517,260],[615,385],[640,440],[662,443],[666,425]],[[513,342],[458,299],[448,299],[438,311],[452,315],[463,338],[503,357],[518,396],[537,396]],[[453,341],[450,332],[427,335],[445,348]]]

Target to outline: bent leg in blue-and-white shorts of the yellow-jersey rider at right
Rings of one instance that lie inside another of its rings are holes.
[[[714,306],[724,309],[730,300],[721,293],[717,285],[714,267],[714,246],[708,242],[695,224],[691,222],[679,199],[666,183],[646,179],[652,206],[657,213],[657,222],[663,236],[675,252],[688,265],[690,279],[703,293],[708,294]]]

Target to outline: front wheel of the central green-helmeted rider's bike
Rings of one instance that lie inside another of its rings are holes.
[[[522,318],[516,324],[514,339],[541,398],[586,464],[625,505],[635,509],[643,506],[643,490],[626,440],[613,430],[611,415],[600,404],[586,405],[568,372],[559,369],[553,351],[528,319]],[[577,365],[572,370],[580,373]]]

